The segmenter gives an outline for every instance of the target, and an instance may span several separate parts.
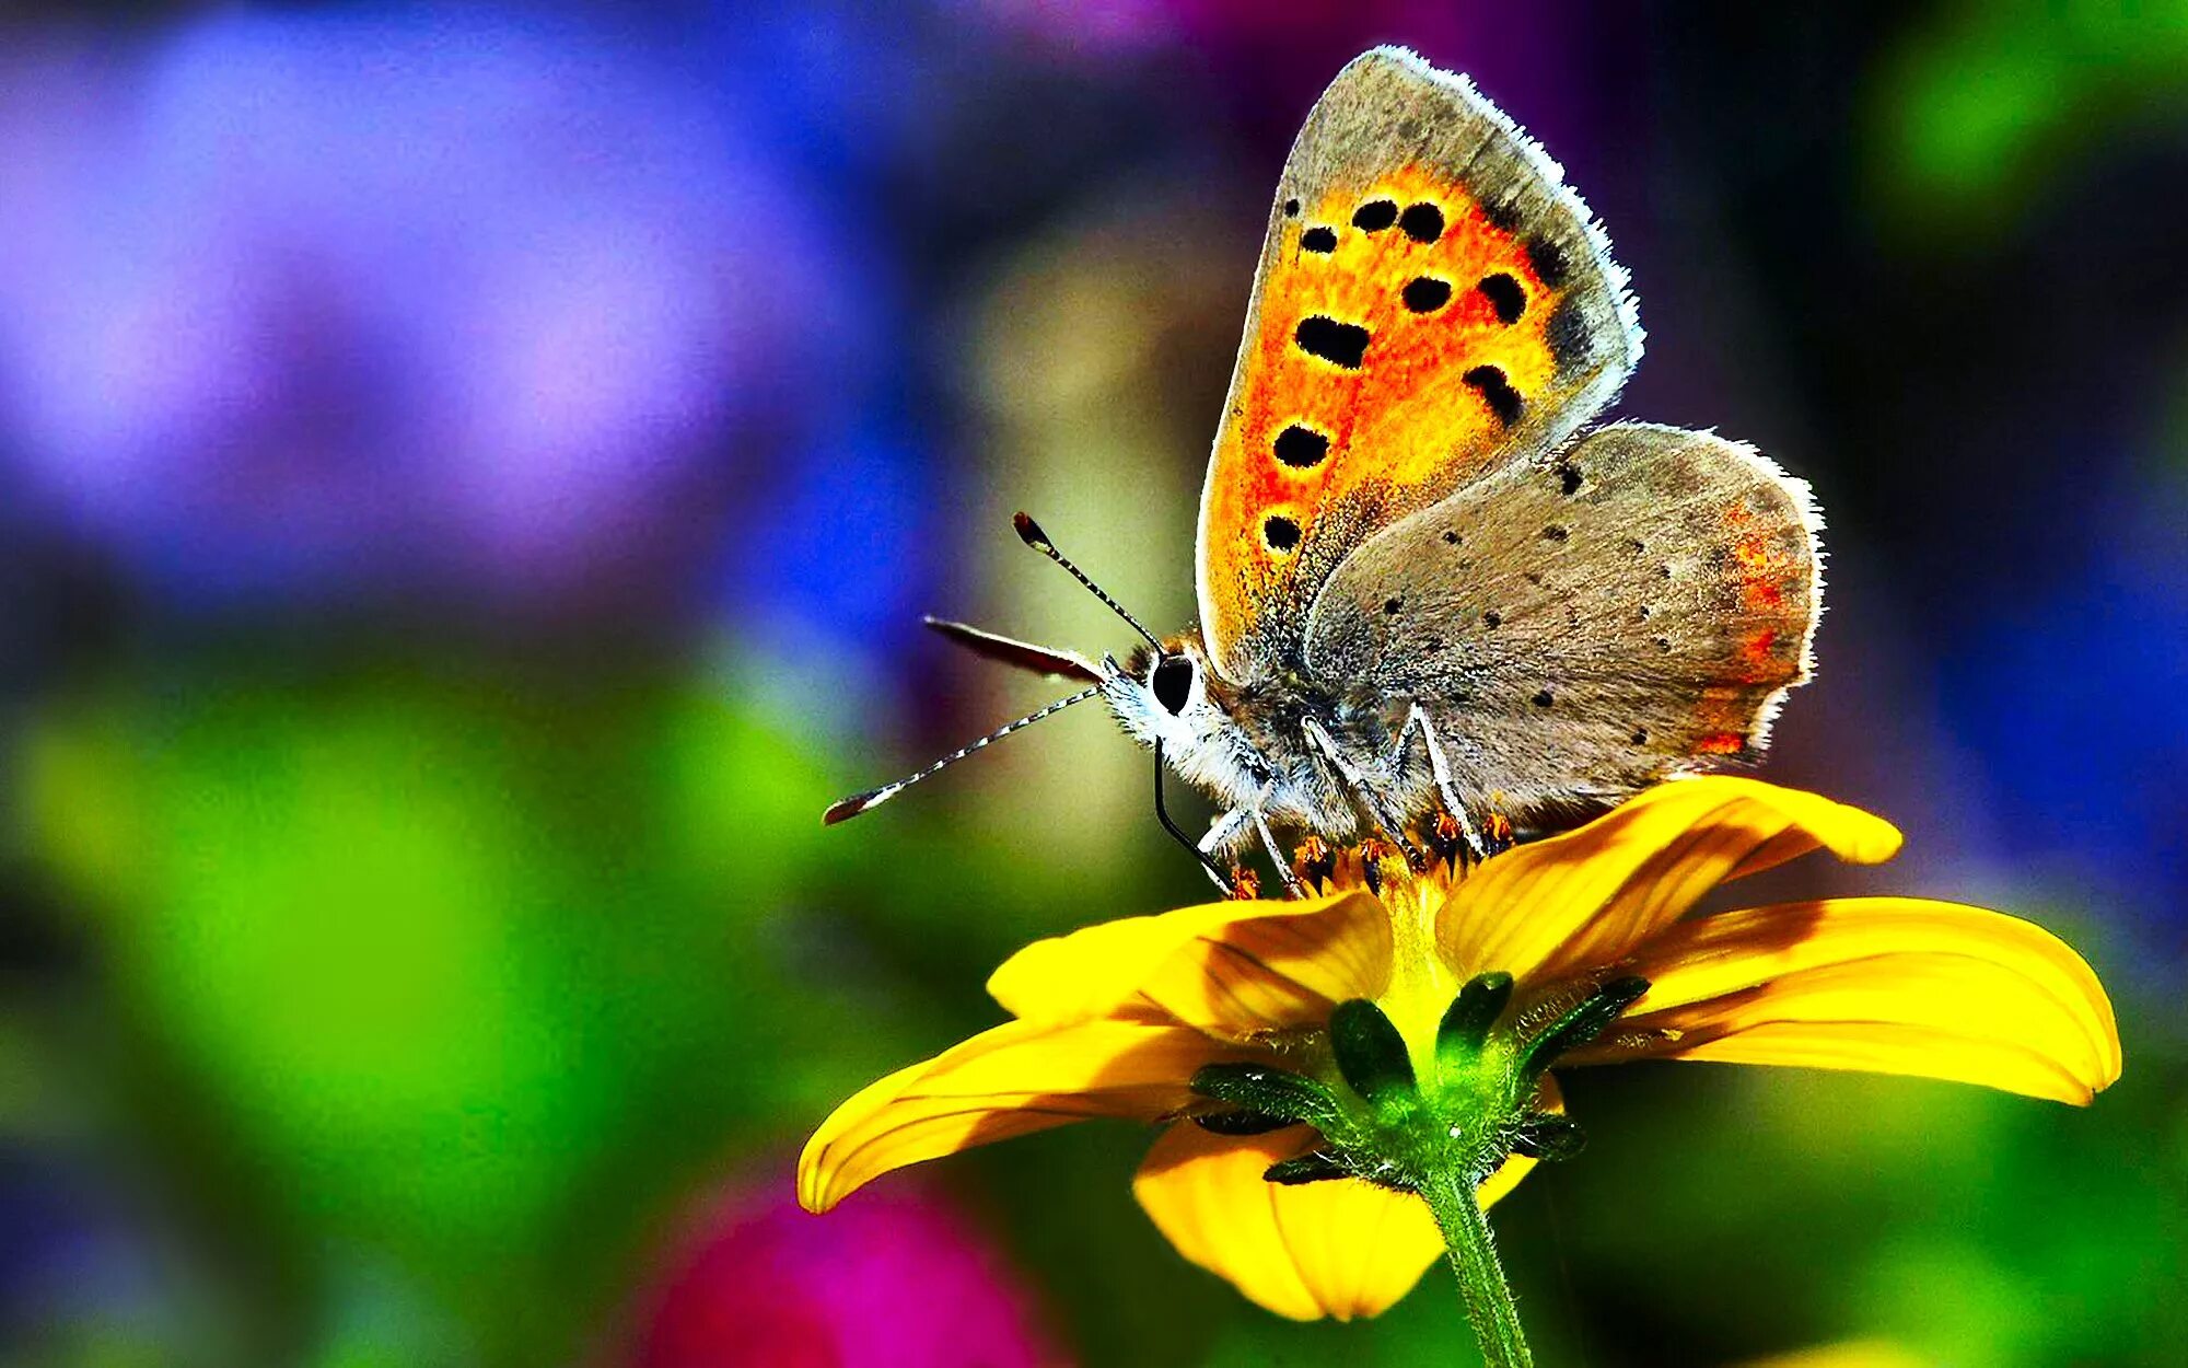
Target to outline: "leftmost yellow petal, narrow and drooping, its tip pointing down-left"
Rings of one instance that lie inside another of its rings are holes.
[[[799,1156],[799,1202],[827,1210],[891,1169],[1070,1121],[1153,1121],[1192,1101],[1192,1070],[1227,1057],[1238,1051],[1188,1027],[1006,1022],[836,1108]]]

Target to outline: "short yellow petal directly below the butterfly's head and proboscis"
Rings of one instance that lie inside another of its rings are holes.
[[[1389,917],[1368,893],[1217,902],[1035,941],[987,981],[1013,1016],[1074,1022],[1157,1007],[1247,1035],[1319,1024],[1389,978]]]

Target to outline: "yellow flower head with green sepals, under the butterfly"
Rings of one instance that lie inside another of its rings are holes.
[[[1578,1132],[1549,1116],[1549,1062],[1860,1068],[2076,1105],[2120,1075],[2103,987],[2028,921],[1912,897],[1687,917],[1718,884],[1814,849],[1879,862],[1899,832],[1807,792],[1698,777],[1464,876],[1411,876],[1370,851],[1308,869],[1317,897],[1039,941],[989,978],[1011,1022],[823,1123],[799,1199],[827,1210],[891,1169],[1090,1116],[1162,1123],[1133,1191],[1171,1243],[1269,1311],[1352,1318],[1396,1302],[1444,1250],[1405,1191],[1405,1145],[1374,1147],[1413,1127],[1444,1147],[1435,1162],[1486,1175],[1486,1206],[1529,1153],[1573,1147]],[[1337,1035],[1396,1027],[1392,1088],[1361,1077],[1374,1051],[1332,1042],[1332,1013]],[[1291,1092],[1252,1092],[1278,1083]],[[1339,1088],[1341,1114],[1324,1114]],[[1249,1092],[1300,1105],[1238,1110]],[[1446,1151],[1473,1121],[1451,1116],[1483,1116],[1464,1162]],[[1302,1118],[1317,1125],[1282,1125]]]

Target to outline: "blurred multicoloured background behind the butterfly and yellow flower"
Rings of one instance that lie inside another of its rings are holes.
[[[2188,7],[15,4],[0,1364],[1466,1364],[1293,1326],[1074,1127],[823,1219],[1009,950],[1206,886],[941,611],[1160,626],[1284,149],[1464,68],[1632,269],[1619,411],[1816,484],[1768,775],[2109,985],[2090,1112],[1645,1066],[1501,1208],[1547,1361],[2188,1355]],[[1807,1361],[1807,1359],[1803,1359]],[[1820,1361],[1820,1359],[1818,1359]]]

